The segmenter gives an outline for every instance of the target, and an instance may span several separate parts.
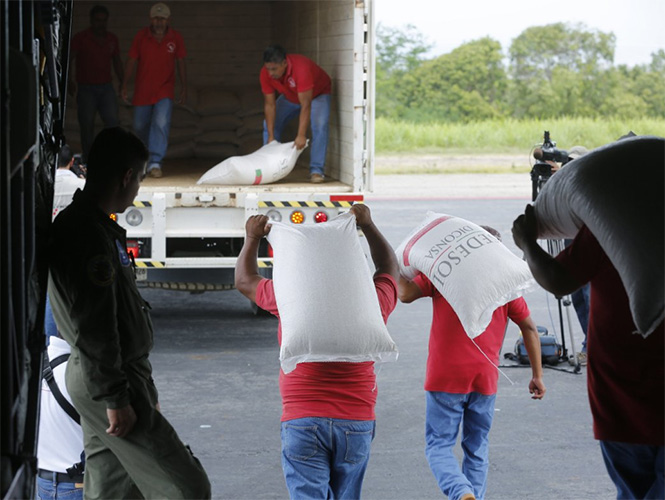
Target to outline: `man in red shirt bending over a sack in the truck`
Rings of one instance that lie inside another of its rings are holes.
[[[323,182],[330,119],[330,77],[311,59],[287,54],[277,44],[263,52],[259,76],[265,113],[263,143],[281,141],[286,124],[298,116],[295,147],[303,149],[311,122],[310,180]],[[280,96],[276,97],[275,92]]]

